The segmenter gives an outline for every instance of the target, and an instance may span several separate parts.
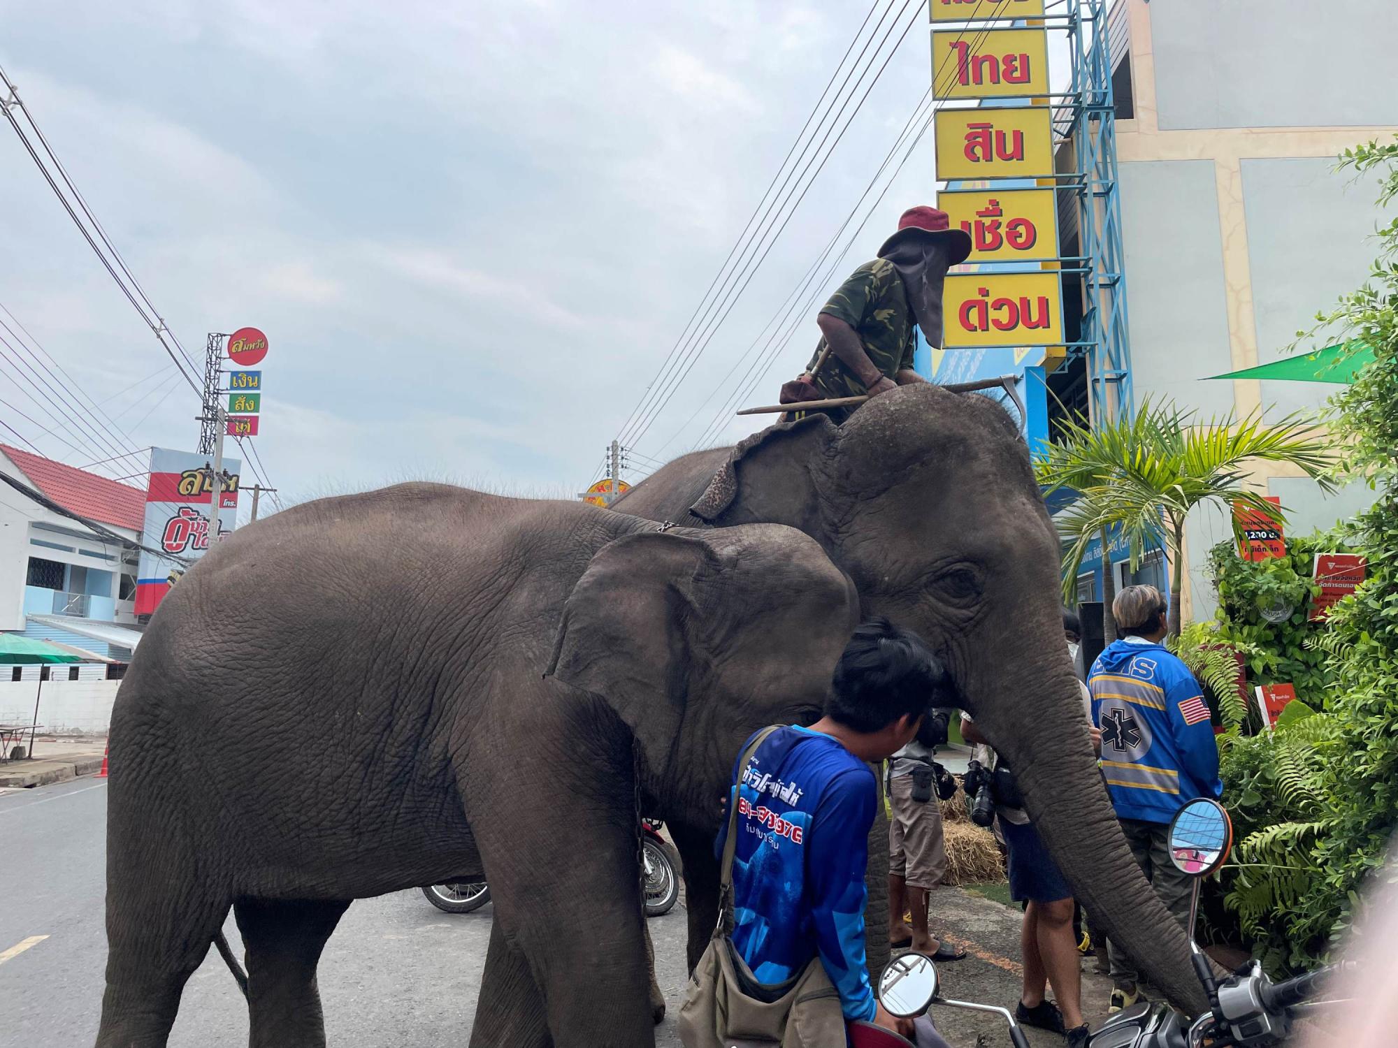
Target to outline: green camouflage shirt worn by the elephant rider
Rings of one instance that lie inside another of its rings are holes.
[[[821,312],[853,327],[870,361],[886,377],[911,370],[916,321],[893,263],[885,259],[864,263],[830,295]],[[815,366],[823,351],[822,337],[807,370]],[[860,397],[868,393],[858,376],[835,354],[830,354],[815,376],[815,384],[826,397]]]

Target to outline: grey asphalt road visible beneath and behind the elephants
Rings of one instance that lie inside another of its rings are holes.
[[[106,963],[103,932],[106,780],[80,778],[0,795],[0,1048],[91,1048]],[[1018,995],[1018,912],[944,889],[934,896],[934,929],[970,954],[941,966],[944,992],[1014,1005]],[[452,915],[419,891],[355,903],[320,963],[320,994],[331,1045],[460,1048],[475,1014],[491,907]],[[672,1016],[685,985],[682,904],[650,921],[660,985],[670,1016],[660,1048],[678,1048]],[[240,950],[229,915],[225,935]],[[1089,1017],[1106,1010],[1100,981],[1085,985]],[[1008,1045],[990,1016],[937,1009],[956,1048]],[[977,1038],[984,1040],[977,1040]],[[1061,1038],[1032,1031],[1036,1045]],[[247,1042],[247,1013],[222,960],[210,950],[185,988],[171,1035],[176,1048]]]

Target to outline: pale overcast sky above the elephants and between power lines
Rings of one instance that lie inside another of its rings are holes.
[[[0,66],[185,345],[267,333],[257,447],[284,496],[404,476],[570,493],[867,10],[0,0]],[[700,405],[747,369],[854,205],[927,87],[924,20],[642,453],[689,450],[731,384]],[[96,400],[154,376],[103,409],[137,446],[192,449],[194,394],[171,369],[155,376],[168,359],[8,124],[0,172],[0,303]],[[842,271],[934,194],[928,136]],[[748,402],[774,401],[816,337],[802,317]],[[17,388],[4,372],[0,386]],[[734,419],[720,436],[754,428]]]

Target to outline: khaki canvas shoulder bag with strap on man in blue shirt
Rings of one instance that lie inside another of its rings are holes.
[[[780,725],[777,725],[780,727]],[[738,783],[758,746],[777,731],[758,732],[738,760]],[[840,995],[821,957],[779,985],[758,982],[733,946],[733,854],[738,805],[728,810],[728,837],[719,866],[719,924],[695,966],[679,1006],[685,1048],[844,1048]]]

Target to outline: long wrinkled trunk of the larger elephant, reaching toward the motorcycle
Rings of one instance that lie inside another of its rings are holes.
[[[1061,639],[1028,650],[1046,653],[1046,661],[1058,651],[1061,665],[1012,671],[1015,679],[990,689],[994,701],[976,703],[976,727],[1009,762],[1025,808],[1078,901],[1172,1003],[1197,1016],[1208,1000],[1188,938],[1127,847],[1093,762],[1082,692]],[[1022,703],[1030,696],[1039,699],[1026,715]]]

